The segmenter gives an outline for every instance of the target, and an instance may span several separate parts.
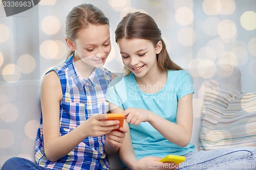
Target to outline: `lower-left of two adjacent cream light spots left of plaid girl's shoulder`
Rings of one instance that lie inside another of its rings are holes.
[[[9,83],[17,82],[21,76],[19,68],[15,64],[8,64],[2,71],[3,78]]]

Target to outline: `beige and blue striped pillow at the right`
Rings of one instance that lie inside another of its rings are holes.
[[[256,146],[256,91],[242,93],[206,82],[199,150]]]

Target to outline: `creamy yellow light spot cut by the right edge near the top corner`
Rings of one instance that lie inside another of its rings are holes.
[[[256,12],[246,11],[240,17],[241,26],[245,30],[254,30],[256,29]]]

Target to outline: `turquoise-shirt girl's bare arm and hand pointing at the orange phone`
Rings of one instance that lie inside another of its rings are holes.
[[[141,122],[150,123],[167,140],[181,147],[185,147],[191,138],[193,127],[193,94],[187,94],[178,101],[176,123],[160,117],[159,115],[144,109],[129,108],[125,115],[127,122],[139,125]],[[166,129],[166,127],[168,127]]]

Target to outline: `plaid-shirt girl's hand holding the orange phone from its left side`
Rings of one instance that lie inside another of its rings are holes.
[[[119,120],[102,121],[107,117],[106,114],[95,114],[83,122],[82,125],[86,136],[101,136],[119,127]]]

